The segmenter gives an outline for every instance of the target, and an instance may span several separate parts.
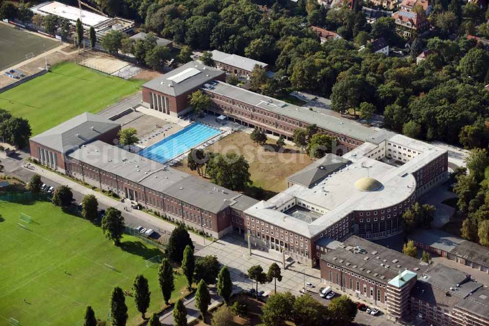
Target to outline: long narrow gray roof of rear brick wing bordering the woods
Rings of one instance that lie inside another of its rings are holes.
[[[278,115],[288,116],[303,121],[307,124],[316,124],[320,128],[331,130],[339,135],[345,135],[357,140],[367,140],[377,129],[368,128],[357,123],[352,123],[334,116],[311,111],[306,107],[300,107],[284,101],[271,98],[262,94],[250,92],[243,88],[213,81],[202,88],[222,96],[231,97],[237,101],[247,103],[257,108],[266,109]]]

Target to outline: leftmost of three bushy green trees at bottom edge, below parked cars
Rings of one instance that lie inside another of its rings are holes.
[[[281,326],[292,319],[295,297],[290,292],[270,296],[262,309],[262,322],[266,326]]]

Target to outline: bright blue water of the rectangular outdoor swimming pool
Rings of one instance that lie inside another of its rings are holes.
[[[220,132],[219,129],[195,122],[177,133],[146,147],[138,154],[150,160],[165,163]]]

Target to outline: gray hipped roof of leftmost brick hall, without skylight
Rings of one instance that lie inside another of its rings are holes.
[[[107,118],[85,112],[30,140],[57,152],[65,153],[119,126],[119,123]]]

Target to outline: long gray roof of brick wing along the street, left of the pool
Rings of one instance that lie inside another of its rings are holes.
[[[213,213],[226,207],[243,210],[258,202],[100,140],[85,144],[68,156]]]

